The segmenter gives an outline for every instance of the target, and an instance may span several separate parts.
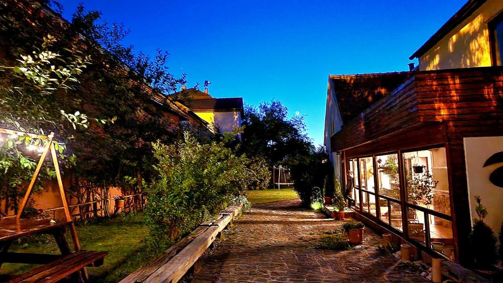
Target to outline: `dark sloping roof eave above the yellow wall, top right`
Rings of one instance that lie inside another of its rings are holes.
[[[418,58],[423,56],[428,50],[430,50],[435,44],[437,44],[442,38],[444,38],[449,32],[451,32],[455,27],[457,27],[461,22],[468,18],[475,10],[477,10],[482,4],[487,0],[469,0],[461,9],[454,14],[435,34],[430,37],[419,49],[417,49],[414,54],[410,55],[409,59]]]

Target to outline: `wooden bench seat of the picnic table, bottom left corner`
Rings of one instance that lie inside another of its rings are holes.
[[[78,274],[78,271],[86,266],[98,267],[103,265],[103,259],[107,254],[106,251],[80,250],[36,267],[7,283],[51,283],[57,282],[72,273],[80,276],[79,280],[82,280],[82,275]]]

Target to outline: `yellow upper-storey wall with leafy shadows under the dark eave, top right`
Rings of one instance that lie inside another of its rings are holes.
[[[433,48],[419,58],[420,70],[491,65],[487,22],[503,11],[503,1],[487,0]]]

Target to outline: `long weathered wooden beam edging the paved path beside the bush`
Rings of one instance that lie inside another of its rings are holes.
[[[199,225],[189,236],[164,251],[160,256],[139,268],[119,283],[176,283],[193,267],[222,230],[232,223],[242,204],[232,205],[220,212],[216,220]]]

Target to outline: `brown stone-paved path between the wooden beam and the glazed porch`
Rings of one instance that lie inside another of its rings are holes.
[[[299,206],[299,200],[254,205],[205,253],[192,282],[431,282],[380,252],[380,237],[368,228],[352,250],[312,248],[321,232],[342,222]]]

